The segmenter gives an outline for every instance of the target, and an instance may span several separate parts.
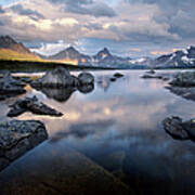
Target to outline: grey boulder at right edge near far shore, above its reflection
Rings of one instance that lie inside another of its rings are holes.
[[[178,74],[170,82],[173,87],[195,87],[195,72]]]

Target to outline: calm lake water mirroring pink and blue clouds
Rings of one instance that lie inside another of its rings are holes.
[[[26,113],[17,117],[43,121],[49,140],[14,161],[0,173],[0,179],[16,177],[14,171],[18,167],[21,173],[27,172],[31,159],[36,172],[40,169],[36,165],[41,165],[42,158],[48,161],[61,159],[66,148],[72,148],[103,167],[136,194],[194,194],[195,143],[173,140],[165,132],[161,121],[169,116],[180,116],[184,120],[195,118],[195,102],[169,92],[165,89],[167,81],[141,79],[143,70],[122,72],[125,77],[115,82],[109,81],[115,72],[91,73],[95,76],[95,86],[89,93],[41,92],[28,88],[25,95],[37,95],[64,116]],[[176,74],[176,70],[162,73]],[[8,106],[15,100],[0,103],[0,120],[8,119]],[[42,164],[44,167],[46,161]]]

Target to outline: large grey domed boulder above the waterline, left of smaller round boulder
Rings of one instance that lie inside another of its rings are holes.
[[[35,88],[63,88],[77,87],[78,79],[72,76],[64,67],[58,67],[48,72],[43,77],[30,83]]]

